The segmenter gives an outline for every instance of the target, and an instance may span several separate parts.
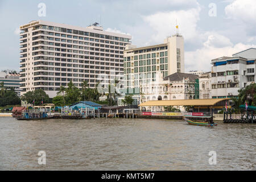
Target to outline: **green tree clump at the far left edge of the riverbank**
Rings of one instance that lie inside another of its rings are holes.
[[[20,98],[13,90],[6,90],[2,97],[0,97],[0,106],[6,105],[20,105]]]

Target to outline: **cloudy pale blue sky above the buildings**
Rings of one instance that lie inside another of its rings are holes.
[[[39,16],[39,3],[46,16]],[[255,0],[0,0],[0,71],[19,71],[19,26],[31,20],[86,27],[133,36],[137,47],[184,37],[185,72],[210,71],[210,60],[256,48]]]

